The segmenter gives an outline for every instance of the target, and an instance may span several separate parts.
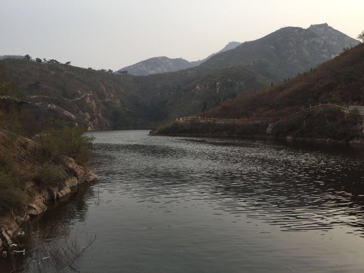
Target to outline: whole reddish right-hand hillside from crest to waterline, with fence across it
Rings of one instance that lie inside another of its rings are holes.
[[[250,94],[226,100],[210,111],[196,114],[217,119],[248,119],[241,122],[173,122],[155,129],[172,135],[265,135],[290,136],[364,144],[363,116],[349,108],[364,105],[364,44],[293,79]],[[302,111],[308,108],[308,111]],[[363,107],[359,107],[363,108]],[[297,114],[300,112],[300,114]],[[293,117],[286,118],[290,115]],[[255,121],[251,122],[255,118]],[[282,119],[283,118],[283,119]],[[258,121],[257,121],[258,120]],[[152,131],[153,133],[153,131]]]

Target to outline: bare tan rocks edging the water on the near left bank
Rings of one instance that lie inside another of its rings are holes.
[[[21,224],[46,211],[48,202],[60,199],[70,194],[71,191],[77,190],[83,183],[93,182],[97,179],[91,170],[77,165],[70,157],[65,158],[63,163],[66,166],[67,178],[59,183],[60,186],[40,187],[30,181],[25,184],[28,201],[24,207],[24,213],[19,214],[19,212],[15,213],[14,210],[11,210],[5,216],[5,220],[0,222],[0,250],[4,244],[12,244],[11,238]]]

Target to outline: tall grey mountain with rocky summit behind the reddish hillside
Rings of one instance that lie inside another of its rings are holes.
[[[309,70],[312,64],[323,63],[343,52],[343,47],[359,43],[326,23],[306,29],[285,27],[212,56],[201,66],[217,69],[248,65],[274,80]],[[264,71],[267,65],[270,69]]]

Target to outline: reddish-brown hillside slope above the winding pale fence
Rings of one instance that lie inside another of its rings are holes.
[[[364,44],[289,81],[240,95],[202,114],[217,118],[281,117],[324,103],[364,104]]]

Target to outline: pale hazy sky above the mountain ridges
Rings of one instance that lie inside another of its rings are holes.
[[[363,0],[0,0],[0,55],[112,70],[155,56],[193,61],[284,26],[328,23],[355,38],[363,11]]]

